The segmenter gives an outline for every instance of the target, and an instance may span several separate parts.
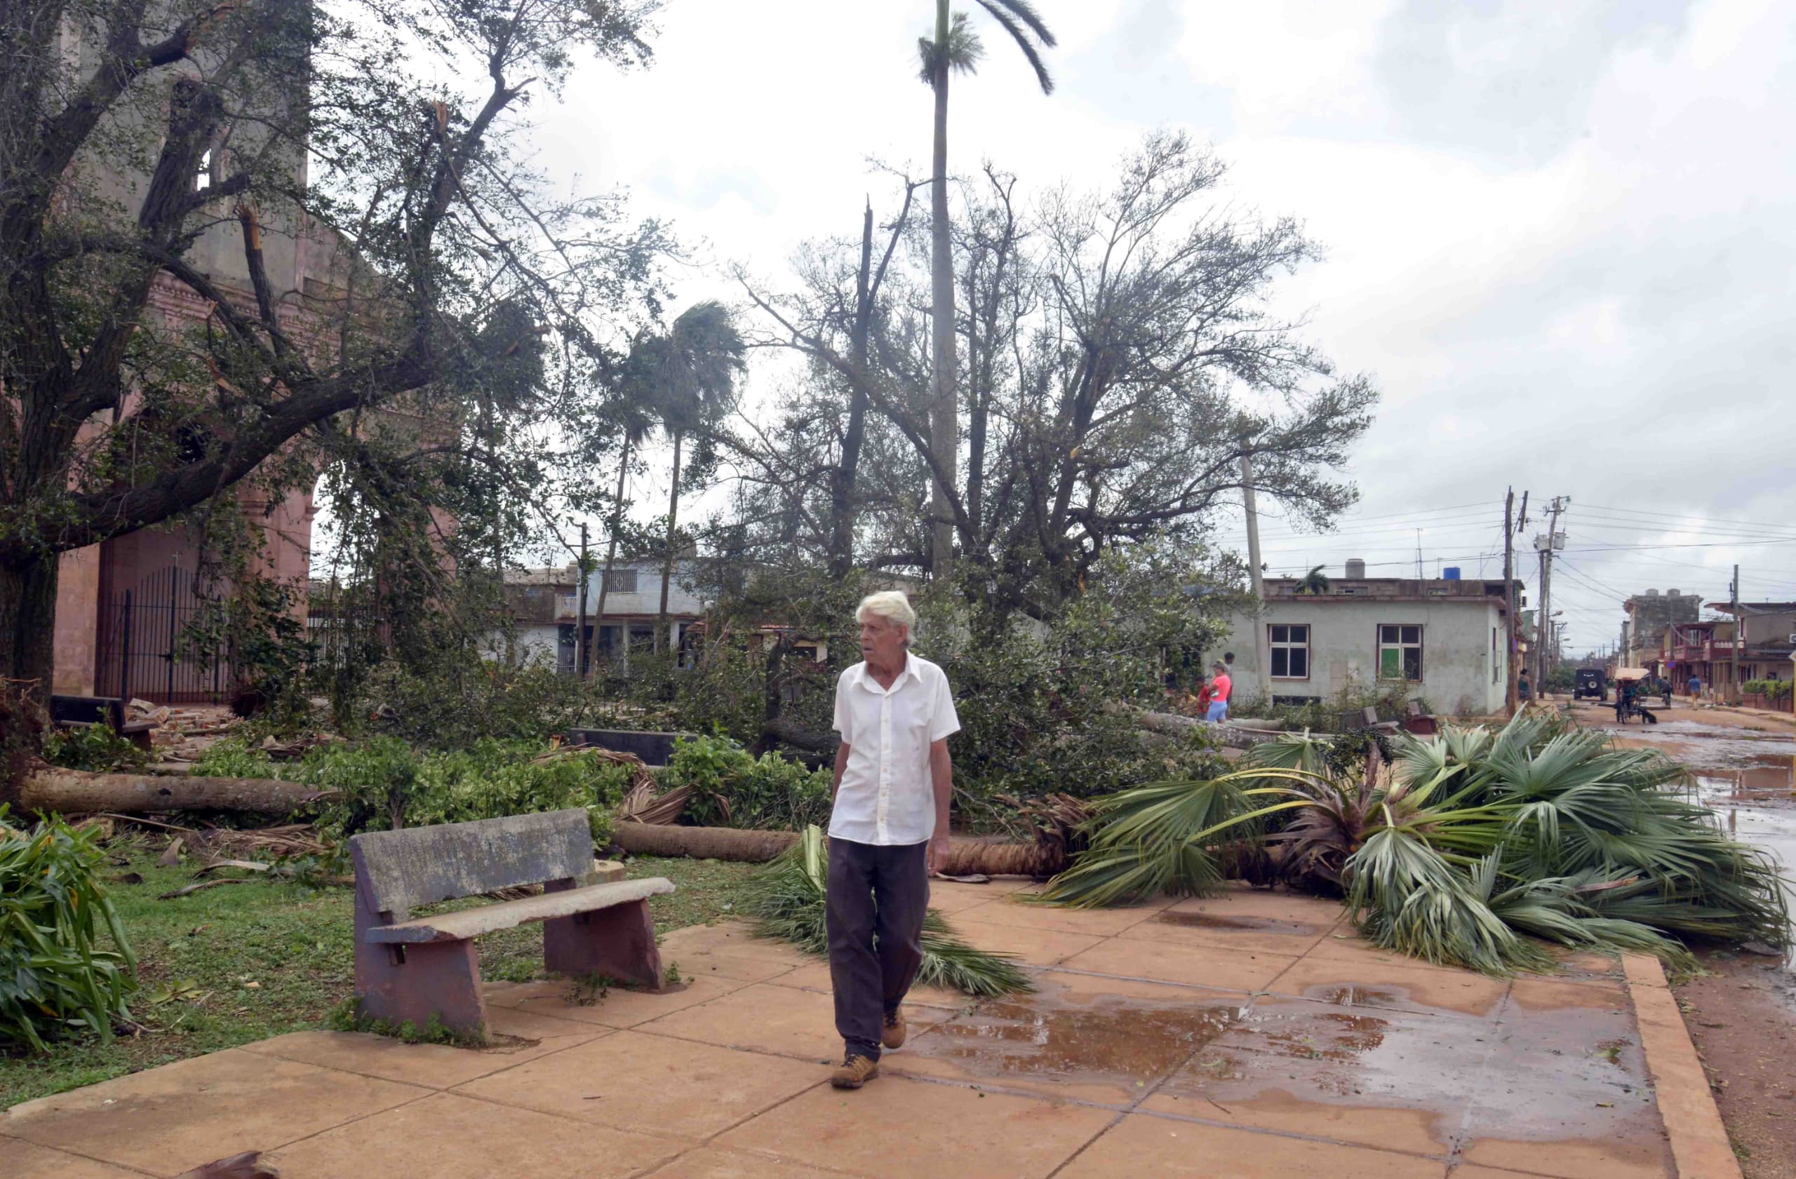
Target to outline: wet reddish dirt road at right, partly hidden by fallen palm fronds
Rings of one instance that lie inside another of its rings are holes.
[[[1695,775],[1697,797],[1735,838],[1796,879],[1796,725],[1674,705],[1661,723],[1625,727],[1613,709],[1577,705],[1584,727],[1658,748]],[[1796,973],[1751,953],[1703,951],[1703,978],[1677,987],[1746,1179],[1796,1179]]]

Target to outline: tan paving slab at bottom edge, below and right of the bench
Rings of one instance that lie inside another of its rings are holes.
[[[268,1156],[296,1179],[614,1179],[691,1143],[438,1093],[325,1131]]]

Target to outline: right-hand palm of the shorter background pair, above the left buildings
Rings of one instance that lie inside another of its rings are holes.
[[[661,610],[656,616],[656,651],[668,630],[668,585],[674,581],[674,542],[679,524],[681,449],[690,431],[704,431],[736,402],[736,377],[747,368],[747,343],[729,309],[715,300],[693,303],[666,336],[656,384],[661,425],[674,436],[674,485],[668,492],[668,535],[661,558]]]

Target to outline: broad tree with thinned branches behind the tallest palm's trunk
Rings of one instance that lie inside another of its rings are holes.
[[[963,185],[963,465],[930,440],[929,251],[909,201],[885,249],[867,224],[803,249],[785,291],[744,273],[763,343],[810,371],[735,454],[745,549],[841,567],[851,547],[864,567],[923,571],[939,497],[966,583],[1045,621],[1110,553],[1202,537],[1236,502],[1243,456],[1259,495],[1306,524],[1349,508],[1358,492],[1331,468],[1376,391],[1275,314],[1277,278],[1316,246],[1295,221],[1218,205],[1223,172],[1155,133],[1099,192],[1029,201],[991,167]]]

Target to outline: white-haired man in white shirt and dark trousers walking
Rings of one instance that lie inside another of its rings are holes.
[[[830,983],[842,1066],[837,1089],[880,1075],[905,1039],[903,996],[923,962],[929,876],[948,858],[948,734],[959,732],[941,668],[911,653],[916,612],[900,592],[855,612],[860,657],[835,682],[830,811]]]

